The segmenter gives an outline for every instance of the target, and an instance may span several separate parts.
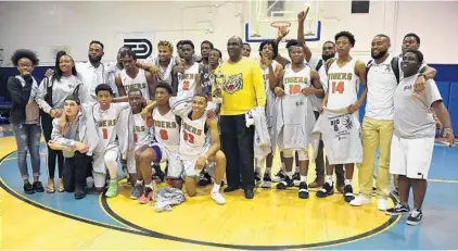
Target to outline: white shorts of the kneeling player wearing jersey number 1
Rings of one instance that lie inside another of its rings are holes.
[[[106,168],[117,168],[119,148],[117,146],[106,149],[105,152],[93,153],[92,176],[96,187],[101,188],[106,183]]]

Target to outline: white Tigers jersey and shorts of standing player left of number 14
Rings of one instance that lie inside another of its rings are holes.
[[[310,67],[298,72],[291,67],[283,75],[284,96],[280,99],[277,118],[278,146],[280,150],[308,149],[309,138],[315,125],[314,106],[310,96],[302,89],[310,87]]]

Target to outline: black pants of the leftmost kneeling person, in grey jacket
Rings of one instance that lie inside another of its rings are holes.
[[[79,152],[75,152],[73,158],[65,158],[64,166],[64,189],[67,192],[77,189],[85,189],[86,177],[90,176],[90,163],[92,158]]]

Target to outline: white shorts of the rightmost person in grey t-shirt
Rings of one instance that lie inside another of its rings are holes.
[[[393,135],[390,173],[427,179],[433,158],[434,138],[404,139]]]

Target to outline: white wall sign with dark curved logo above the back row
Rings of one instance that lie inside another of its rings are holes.
[[[147,59],[153,53],[154,35],[148,33],[123,33],[118,39],[124,47],[130,48],[137,54],[137,59]]]

